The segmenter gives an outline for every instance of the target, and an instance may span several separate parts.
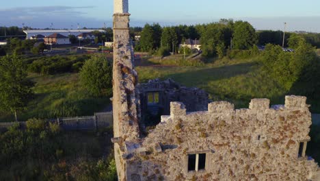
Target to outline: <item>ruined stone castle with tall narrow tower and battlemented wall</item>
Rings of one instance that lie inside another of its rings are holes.
[[[142,136],[137,72],[129,38],[128,0],[114,0],[114,152],[119,180],[319,180],[306,156],[311,114],[306,97],[286,96],[283,108],[252,99],[235,110],[226,101],[187,112],[170,103]]]

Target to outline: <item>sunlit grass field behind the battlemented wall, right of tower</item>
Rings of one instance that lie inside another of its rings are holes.
[[[286,95],[283,88],[261,71],[257,58],[224,58],[202,67],[148,65],[137,67],[137,71],[140,82],[170,77],[185,86],[206,90],[213,100],[231,101],[237,108],[248,108],[252,98],[269,98],[271,104],[284,104]]]

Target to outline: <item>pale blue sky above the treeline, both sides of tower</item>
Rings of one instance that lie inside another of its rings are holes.
[[[256,29],[320,32],[319,0],[129,0],[131,26],[249,21]],[[76,28],[111,26],[112,0],[11,0],[0,5],[0,26]]]

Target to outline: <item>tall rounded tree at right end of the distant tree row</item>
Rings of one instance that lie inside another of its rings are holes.
[[[250,49],[258,43],[256,30],[246,21],[236,21],[233,29],[234,49]]]

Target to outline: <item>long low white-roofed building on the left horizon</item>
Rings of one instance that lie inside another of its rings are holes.
[[[63,36],[78,36],[79,34],[88,34],[95,31],[105,32],[105,30],[103,29],[30,29],[24,30],[23,32],[27,34],[26,39],[30,39],[32,36],[37,36],[38,34],[41,34],[42,36],[49,36],[51,34],[62,34]]]

